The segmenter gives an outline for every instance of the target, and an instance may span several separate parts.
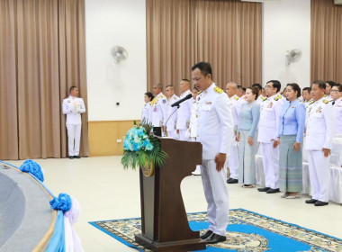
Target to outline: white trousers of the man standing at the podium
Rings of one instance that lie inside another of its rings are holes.
[[[218,172],[214,160],[202,160],[202,184],[208,203],[209,230],[220,236],[226,236],[229,223],[229,199],[226,185],[227,168]]]

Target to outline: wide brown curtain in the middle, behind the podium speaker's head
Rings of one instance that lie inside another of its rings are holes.
[[[191,78],[191,67],[211,62],[224,87],[261,82],[261,4],[239,0],[147,0],[148,90]]]

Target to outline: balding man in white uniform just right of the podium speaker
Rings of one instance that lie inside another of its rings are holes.
[[[231,108],[231,112],[233,114],[234,121],[234,134],[238,131],[238,113],[241,109],[241,106],[238,104],[238,85],[235,82],[229,82],[226,85],[226,94],[229,98],[229,105]],[[238,142],[236,139],[231,140],[229,157],[227,158],[227,166],[229,167],[229,179],[227,180],[228,184],[237,184],[238,183]]]

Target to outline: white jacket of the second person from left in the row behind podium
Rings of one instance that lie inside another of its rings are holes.
[[[166,122],[167,116],[167,99],[163,93],[157,94],[152,100],[152,125],[154,127],[162,127]]]

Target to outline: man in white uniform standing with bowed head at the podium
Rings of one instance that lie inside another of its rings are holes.
[[[202,184],[208,203],[210,226],[201,236],[209,244],[226,240],[229,222],[227,151],[233,139],[233,117],[228,95],[211,80],[211,64],[192,67],[193,84],[201,91],[196,97],[197,137],[202,143]]]

